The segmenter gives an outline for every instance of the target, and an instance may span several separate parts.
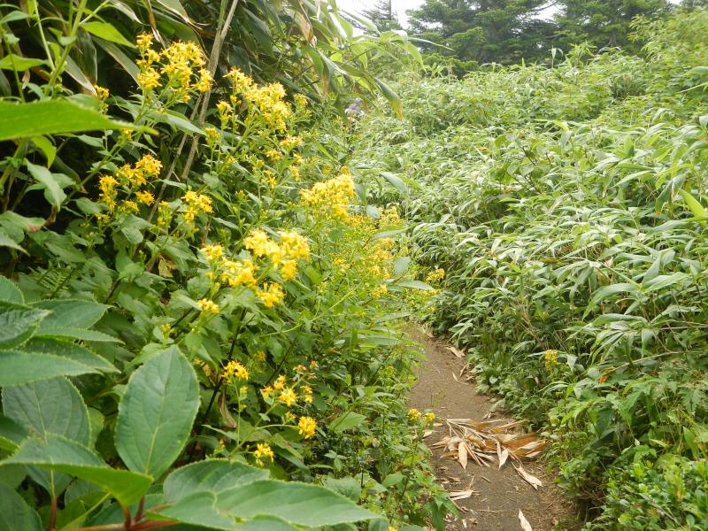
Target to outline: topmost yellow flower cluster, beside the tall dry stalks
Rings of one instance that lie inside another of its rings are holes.
[[[143,90],[169,88],[176,100],[188,102],[190,92],[206,92],[212,86],[212,75],[204,68],[204,53],[195,42],[173,42],[162,53],[152,48],[152,35],[137,38],[141,58],[137,81]],[[166,79],[163,79],[166,78]]]

